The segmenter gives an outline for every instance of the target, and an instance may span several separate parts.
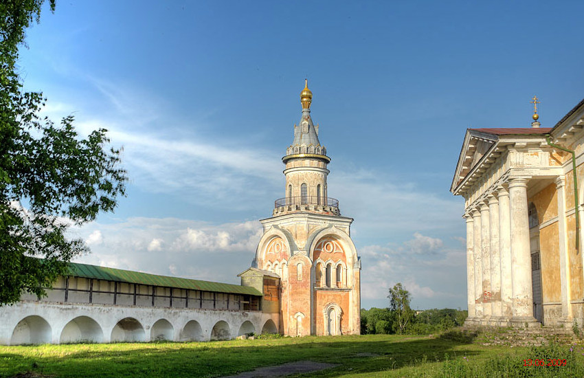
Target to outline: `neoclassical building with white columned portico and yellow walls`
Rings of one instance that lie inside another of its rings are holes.
[[[464,138],[451,192],[465,199],[472,326],[584,323],[584,100],[553,128],[537,118]]]

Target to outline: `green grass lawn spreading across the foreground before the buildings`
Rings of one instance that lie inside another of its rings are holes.
[[[524,366],[524,359],[565,359],[566,365]],[[482,346],[398,335],[0,346],[0,376],[221,377],[302,360],[339,364],[302,375],[311,377],[584,377],[582,345]]]

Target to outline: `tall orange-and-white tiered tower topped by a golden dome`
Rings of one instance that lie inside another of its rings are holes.
[[[260,221],[264,234],[252,265],[280,277],[280,333],[359,334],[361,261],[350,238],[353,219],[328,197],[330,157],[311,118],[312,100],[306,80],[300,123],[282,157],[284,197]]]

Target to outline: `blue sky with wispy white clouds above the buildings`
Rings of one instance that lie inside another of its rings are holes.
[[[71,230],[77,262],[238,283],[284,197],[311,116],[328,194],[355,219],[361,305],[402,282],[416,309],[467,308],[467,128],[551,127],[584,97],[581,1],[57,1],[19,69],[43,113],[123,147],[127,197]]]

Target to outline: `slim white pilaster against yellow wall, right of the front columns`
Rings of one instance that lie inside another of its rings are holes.
[[[556,179],[558,197],[558,241],[560,254],[560,281],[562,295],[562,318],[572,319],[572,306],[570,304],[570,256],[568,256],[568,234],[565,227],[565,177]]]

